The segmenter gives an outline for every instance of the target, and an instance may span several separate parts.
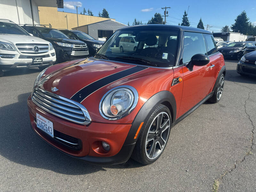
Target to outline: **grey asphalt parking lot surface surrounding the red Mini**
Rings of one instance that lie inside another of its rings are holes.
[[[162,156],[142,166],[96,166],[39,139],[26,100],[37,68],[0,77],[0,191],[255,191],[256,78],[227,60],[224,92],[175,125]]]

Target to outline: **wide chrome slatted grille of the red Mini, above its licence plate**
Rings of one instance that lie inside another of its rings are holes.
[[[68,121],[78,124],[89,124],[91,121],[83,105],[54,93],[36,88],[32,101],[43,110]]]

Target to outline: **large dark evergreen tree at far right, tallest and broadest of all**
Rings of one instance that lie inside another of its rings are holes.
[[[248,32],[249,24],[250,21],[246,12],[242,11],[241,14],[236,17],[235,23],[231,25],[231,29],[233,32],[239,31],[240,33],[246,34]]]

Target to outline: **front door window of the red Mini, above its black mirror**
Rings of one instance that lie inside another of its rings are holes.
[[[204,44],[204,38],[202,33],[184,33],[184,51],[183,51],[183,63],[187,63],[191,60],[191,57],[195,54],[206,54],[206,48]]]

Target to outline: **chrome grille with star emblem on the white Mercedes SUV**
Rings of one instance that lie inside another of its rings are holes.
[[[49,45],[48,44],[16,44],[17,48],[21,53],[25,54],[40,54],[48,52]],[[34,47],[37,47],[39,50],[34,51]]]

